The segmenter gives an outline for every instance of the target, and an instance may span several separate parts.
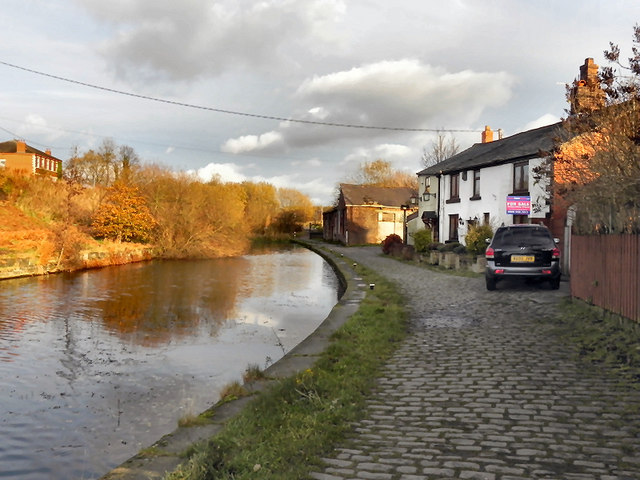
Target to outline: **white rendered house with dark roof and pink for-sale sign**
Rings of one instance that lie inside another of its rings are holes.
[[[537,167],[561,134],[558,123],[493,141],[486,127],[482,143],[418,172],[425,228],[440,242],[465,244],[472,224],[549,225],[549,179]]]

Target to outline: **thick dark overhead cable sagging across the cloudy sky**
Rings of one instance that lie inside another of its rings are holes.
[[[128,97],[139,98],[143,100],[150,100],[152,102],[166,103],[169,105],[175,105],[178,107],[187,107],[194,108],[198,110],[207,110],[210,112],[224,113],[227,115],[238,115],[243,117],[252,117],[252,118],[261,118],[264,120],[277,120],[279,122],[291,122],[291,123],[303,123],[308,125],[323,125],[327,127],[342,127],[342,128],[360,128],[366,130],[392,130],[398,132],[453,132],[453,133],[478,133],[480,130],[465,130],[465,129],[448,129],[448,128],[405,128],[405,127],[384,127],[384,126],[373,126],[373,125],[357,125],[351,123],[332,123],[332,122],[319,122],[315,120],[303,120],[300,118],[285,118],[278,117],[275,115],[260,115],[256,113],[247,113],[247,112],[236,112],[234,110],[225,110],[222,108],[214,108],[214,107],[205,107],[203,105],[195,105],[192,103],[184,103],[177,102],[175,100],[167,100],[164,98],[151,97],[148,95],[141,95],[138,93],[125,92],[123,90],[116,90],[115,88],[102,87],[100,85],[94,85],[91,83],[81,82],[79,80],[73,80],[71,78],[60,77],[58,75],[52,75],[50,73],[40,72],[38,70],[33,70],[31,68],[21,67],[20,65],[15,65],[13,63],[8,63],[0,60],[0,65],[4,65],[6,67],[15,68],[18,70],[23,70],[25,72],[34,73],[36,75],[41,75],[43,77],[53,78],[55,80],[60,80],[67,83],[73,83],[75,85],[82,85],[83,87],[93,88],[96,90],[102,90],[105,92],[116,93],[118,95],[126,95]]]

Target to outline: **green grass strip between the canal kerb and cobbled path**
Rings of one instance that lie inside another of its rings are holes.
[[[407,333],[404,301],[394,286],[363,267],[358,273],[376,287],[314,366],[259,394],[166,480],[307,478],[345,438],[364,415],[381,366]]]

